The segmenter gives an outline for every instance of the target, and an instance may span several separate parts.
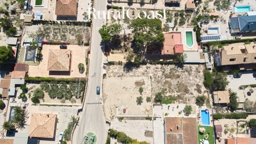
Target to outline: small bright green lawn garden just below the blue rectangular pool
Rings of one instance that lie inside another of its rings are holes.
[[[201,130],[200,130],[201,128]],[[198,144],[203,143],[203,140],[208,141],[209,144],[214,143],[213,128],[208,126],[197,126]],[[202,141],[200,141],[202,140]],[[204,144],[204,143],[203,143]]]

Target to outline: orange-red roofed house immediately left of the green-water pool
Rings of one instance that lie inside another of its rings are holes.
[[[147,48],[148,55],[177,55],[183,53],[181,32],[164,33],[164,44],[158,48]]]

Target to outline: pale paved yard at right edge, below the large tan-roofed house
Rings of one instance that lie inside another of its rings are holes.
[[[227,88],[230,88],[233,92],[237,92],[239,86],[256,84],[256,78],[253,77],[253,71],[248,70],[246,72],[241,72],[240,78],[234,78],[233,75],[228,75],[228,81],[230,82]]]

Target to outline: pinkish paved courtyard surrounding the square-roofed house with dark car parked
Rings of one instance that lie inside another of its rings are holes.
[[[71,72],[49,72],[47,71],[49,49],[60,49],[60,45],[44,45],[42,48],[42,61],[38,66],[29,66],[28,75],[31,77],[56,77],[56,78],[73,78],[85,77],[85,72],[82,74],[78,71],[78,64],[85,65],[85,49],[87,47],[80,47],[78,45],[68,45],[68,49],[73,50],[71,61]],[[85,65],[86,71],[86,65]]]

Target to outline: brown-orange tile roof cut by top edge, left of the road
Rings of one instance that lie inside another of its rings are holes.
[[[76,0],[57,0],[56,1],[56,15],[76,16],[77,2]]]

